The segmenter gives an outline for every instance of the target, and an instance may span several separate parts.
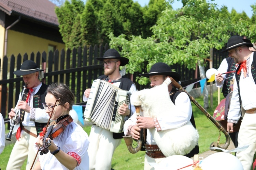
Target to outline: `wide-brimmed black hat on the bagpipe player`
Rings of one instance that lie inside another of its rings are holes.
[[[167,64],[161,63],[161,62],[154,64],[151,67],[149,73],[144,73],[139,75],[147,78],[149,78],[152,75],[167,75],[172,77],[177,82],[181,80],[181,75],[179,73],[172,71]]]

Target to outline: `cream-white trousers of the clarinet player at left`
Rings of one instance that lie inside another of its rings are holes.
[[[37,134],[35,127],[25,127],[30,132]],[[30,170],[35,158],[34,143],[36,138],[23,131],[20,134],[12,149],[6,170],[20,170],[24,161],[27,159],[26,170]]]

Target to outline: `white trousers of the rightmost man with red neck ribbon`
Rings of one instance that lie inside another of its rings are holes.
[[[245,113],[238,133],[238,147],[256,141],[256,114]],[[251,144],[244,151],[237,152],[237,158],[241,161],[244,170],[251,170],[256,144]]]

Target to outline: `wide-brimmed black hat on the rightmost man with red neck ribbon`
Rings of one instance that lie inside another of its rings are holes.
[[[243,37],[234,35],[228,39],[227,48],[225,50],[222,50],[221,52],[226,52],[228,50],[231,50],[233,48],[239,47],[239,46],[247,46],[247,47],[253,47],[253,44],[248,39],[243,39]]]

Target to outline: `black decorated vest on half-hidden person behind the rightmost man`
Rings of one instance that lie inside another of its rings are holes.
[[[229,72],[229,71],[236,70],[236,63],[234,62],[234,58],[228,57],[228,58],[226,58],[226,60],[227,60],[227,63],[228,63],[227,71]],[[231,77],[232,75],[234,75],[234,73],[227,73],[226,78]],[[226,79],[223,82],[222,92],[223,92],[224,97],[226,97],[230,92],[230,80],[231,79],[232,78]]]

